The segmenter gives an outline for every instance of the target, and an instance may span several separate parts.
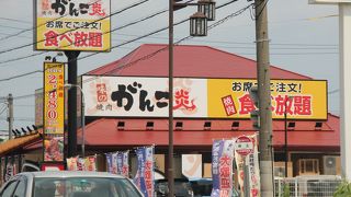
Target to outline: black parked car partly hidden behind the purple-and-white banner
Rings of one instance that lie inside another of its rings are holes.
[[[212,193],[212,178],[194,178],[190,179],[190,185],[194,192],[194,197],[211,196]],[[239,192],[233,188],[231,197],[239,197]]]

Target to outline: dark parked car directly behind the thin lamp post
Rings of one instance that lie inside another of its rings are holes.
[[[194,193],[188,178],[176,178],[174,179],[174,196],[176,197],[193,197]],[[155,193],[156,197],[168,196],[168,181],[157,179],[155,181]]]

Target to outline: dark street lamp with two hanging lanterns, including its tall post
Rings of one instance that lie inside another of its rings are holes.
[[[207,19],[214,20],[215,2],[212,0],[200,0],[197,3],[177,3],[180,0],[169,0],[169,73],[168,73],[168,86],[169,86],[169,105],[168,105],[168,196],[174,196],[174,167],[173,167],[173,11],[185,8],[186,5],[197,5],[199,12],[202,14],[194,14],[190,18],[190,34],[192,36],[205,36],[207,35]],[[206,15],[203,18],[203,14]],[[200,26],[196,26],[200,25]],[[193,32],[192,32],[193,31]]]

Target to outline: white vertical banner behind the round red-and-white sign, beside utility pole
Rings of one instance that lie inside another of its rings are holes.
[[[253,152],[242,157],[238,154],[235,151],[235,159],[238,170],[238,182],[241,188],[241,193],[244,193],[244,178],[245,178],[245,172],[244,172],[244,160],[246,160],[246,163],[248,165],[248,174],[249,174],[249,185],[250,185],[250,197],[259,197],[260,195],[260,169],[259,169],[259,153],[258,153],[258,141],[257,136],[248,136],[251,138],[253,142]]]

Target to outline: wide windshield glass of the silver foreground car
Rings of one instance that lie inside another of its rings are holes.
[[[36,177],[34,197],[141,197],[126,178]]]

